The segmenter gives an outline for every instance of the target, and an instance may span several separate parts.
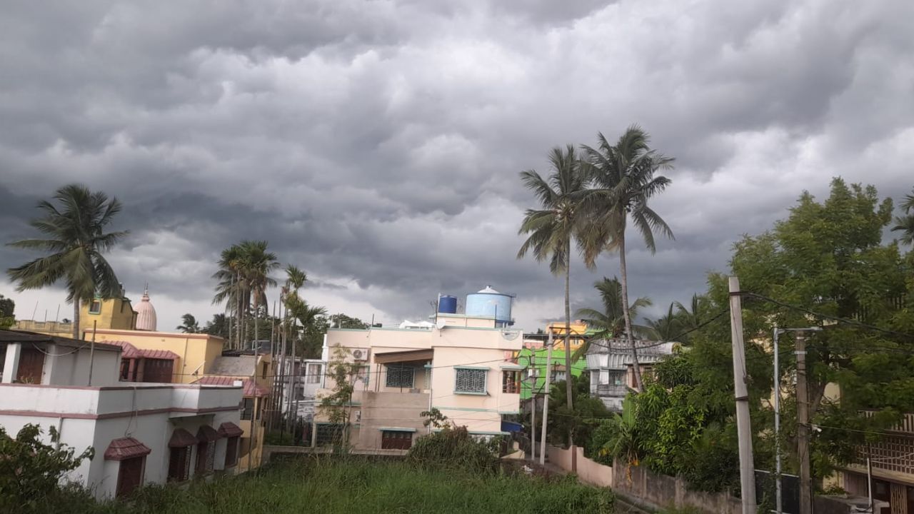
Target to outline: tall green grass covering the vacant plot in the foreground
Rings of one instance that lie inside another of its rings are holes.
[[[145,487],[126,501],[48,498],[46,514],[611,513],[609,490],[573,478],[474,475],[355,458],[305,458],[189,487]]]

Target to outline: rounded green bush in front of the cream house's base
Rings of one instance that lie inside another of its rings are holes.
[[[448,426],[421,436],[409,448],[408,459],[423,467],[457,468],[476,474],[492,474],[498,469],[493,444],[477,441],[465,426]]]

